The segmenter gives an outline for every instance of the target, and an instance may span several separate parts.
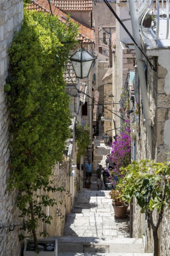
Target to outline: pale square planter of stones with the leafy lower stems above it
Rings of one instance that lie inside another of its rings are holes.
[[[32,240],[27,240],[24,248],[24,256],[57,256],[57,240],[56,239],[38,239],[37,229],[39,227],[39,220],[50,224],[52,216],[47,215],[44,209],[47,206],[54,206],[57,204],[55,198],[50,198],[48,192],[55,191],[65,191],[63,187],[55,188],[52,186],[52,181],[40,181],[39,185],[27,182],[25,184],[25,189],[20,191],[17,198],[17,206],[21,210],[20,217],[23,218],[23,227],[20,230],[26,231],[26,233],[20,233],[20,240],[25,238],[31,238]],[[26,189],[27,187],[27,189]],[[39,189],[43,188],[43,193],[37,193]],[[46,232],[40,232],[41,236]]]

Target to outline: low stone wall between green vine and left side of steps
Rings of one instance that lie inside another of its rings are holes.
[[[63,236],[65,227],[66,214],[70,213],[74,198],[78,192],[78,168],[76,142],[75,142],[75,119],[72,119],[70,125],[71,138],[67,140],[67,148],[65,158],[62,162],[56,164],[53,168],[52,180],[54,180],[55,187],[64,187],[65,191],[57,191],[51,196],[55,197],[57,204],[46,209],[47,213],[52,216],[51,225],[45,225],[49,236]]]

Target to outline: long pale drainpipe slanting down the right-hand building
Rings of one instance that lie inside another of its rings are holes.
[[[134,0],[129,0],[129,9],[131,13],[131,26],[132,26],[133,37],[135,38],[138,46],[142,49],[142,46],[140,43],[139,26],[137,22],[137,12],[136,12],[136,8],[134,8]],[[135,46],[135,50],[136,50],[136,58],[137,58],[137,71],[140,79],[140,89],[141,89],[142,103],[143,103],[143,109],[144,109],[144,123],[147,131],[147,135],[148,135],[150,154],[152,155],[150,106],[148,101],[148,93],[147,93],[146,80],[145,80],[145,74],[144,74],[143,54],[136,46]]]

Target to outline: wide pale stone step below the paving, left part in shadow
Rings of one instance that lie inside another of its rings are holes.
[[[78,237],[63,236],[58,239],[59,253],[90,253],[100,255],[102,253],[144,253],[143,240],[137,238],[98,238],[98,237]],[[100,254],[98,254],[100,253]],[[75,254],[76,255],[76,254]],[[115,255],[116,256],[116,255]]]

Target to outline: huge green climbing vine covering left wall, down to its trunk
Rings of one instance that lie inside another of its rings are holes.
[[[20,191],[17,206],[36,251],[38,219],[50,223],[51,216],[43,214],[43,207],[55,204],[48,195],[38,200],[37,190],[63,191],[53,187],[49,176],[53,165],[61,161],[70,135],[63,71],[77,34],[78,27],[69,17],[62,23],[54,15],[25,9],[21,30],[9,48],[10,70],[4,88],[11,120],[8,188]]]

